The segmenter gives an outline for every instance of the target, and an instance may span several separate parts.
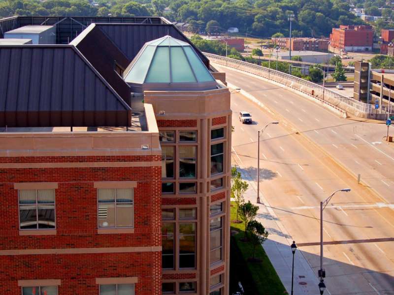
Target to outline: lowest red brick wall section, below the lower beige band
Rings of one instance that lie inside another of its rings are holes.
[[[21,294],[18,280],[61,279],[59,295],[98,295],[96,278],[138,277],[136,295],[161,295],[161,253],[1,257],[1,294]]]

